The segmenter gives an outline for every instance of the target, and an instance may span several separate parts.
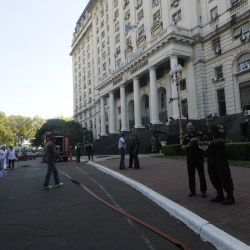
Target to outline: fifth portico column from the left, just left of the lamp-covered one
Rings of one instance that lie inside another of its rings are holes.
[[[159,120],[159,100],[157,93],[157,85],[156,85],[156,71],[155,68],[149,69],[149,77],[150,77],[150,123],[152,124],[161,124]]]

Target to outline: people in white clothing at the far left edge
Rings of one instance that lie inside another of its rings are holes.
[[[16,154],[12,146],[9,149],[5,145],[0,147],[0,176],[7,173],[7,168],[14,170],[15,160]]]

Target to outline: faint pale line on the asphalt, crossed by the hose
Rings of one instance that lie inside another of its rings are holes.
[[[97,182],[95,179],[93,179],[91,176],[89,176],[85,171],[83,171],[82,169],[80,169],[79,167],[76,167],[81,173],[83,173],[85,176],[87,176],[92,182],[94,182],[106,195],[107,197],[113,202],[113,204],[116,207],[119,207],[120,209],[122,209],[124,212],[126,212],[114,199],[114,197],[103,187],[102,184],[100,184],[99,182]],[[126,218],[128,224],[138,233],[138,235],[141,237],[141,239],[145,242],[145,244],[148,246],[148,249],[150,250],[156,250],[156,248],[153,246],[153,244],[151,243],[151,241],[146,237],[146,235],[140,231],[135,223]]]

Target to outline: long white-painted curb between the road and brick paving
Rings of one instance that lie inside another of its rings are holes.
[[[113,171],[109,168],[106,168],[100,164],[88,162],[88,165],[91,165],[98,170],[109,174],[120,181],[125,182],[130,185],[150,200],[155,202],[158,206],[167,211],[170,215],[174,216],[178,220],[186,224],[190,229],[195,233],[200,235],[200,237],[210,242],[217,249],[220,250],[250,250],[250,246],[246,245],[244,242],[236,239],[235,237],[227,234],[221,229],[215,227],[213,224],[204,220],[197,214],[189,211],[188,209],[180,206],[179,204],[171,201],[170,199],[164,197],[163,195],[153,191],[152,189],[146,187],[145,185],[134,181],[116,171]]]

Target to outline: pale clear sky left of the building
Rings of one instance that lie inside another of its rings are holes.
[[[75,24],[88,0],[0,0],[0,111],[73,115]]]

